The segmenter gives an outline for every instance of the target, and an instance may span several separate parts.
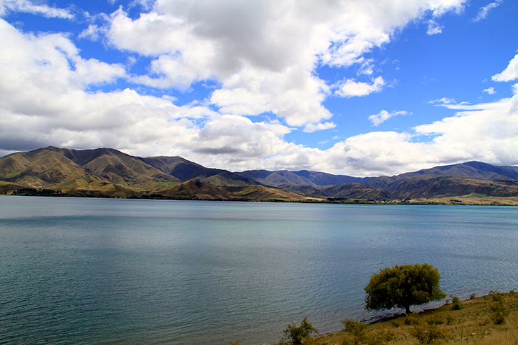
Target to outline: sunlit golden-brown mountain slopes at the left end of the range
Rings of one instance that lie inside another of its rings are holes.
[[[125,188],[160,182],[179,183],[178,178],[118,150],[67,150],[41,148],[29,153],[13,153],[0,158],[0,180],[31,188],[53,188],[76,192],[103,188],[106,184]],[[105,188],[106,189],[106,188]]]

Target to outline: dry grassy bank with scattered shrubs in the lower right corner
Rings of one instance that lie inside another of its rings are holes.
[[[347,319],[344,330],[305,345],[518,344],[518,293],[495,293],[459,301],[450,296],[444,306],[401,314],[371,325]],[[301,324],[302,326],[302,324]]]

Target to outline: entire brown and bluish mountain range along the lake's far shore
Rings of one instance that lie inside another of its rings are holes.
[[[40,148],[0,157],[0,193],[222,200],[518,200],[518,167],[465,162],[396,176],[203,167],[183,157],[134,157],[111,148]]]

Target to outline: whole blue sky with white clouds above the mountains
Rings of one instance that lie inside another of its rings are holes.
[[[0,0],[0,156],[518,164],[516,0]]]

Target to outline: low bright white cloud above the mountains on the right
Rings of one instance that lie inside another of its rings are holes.
[[[412,133],[351,136],[314,155],[313,169],[379,176],[470,160],[518,164],[518,94],[496,103],[455,107],[455,116],[417,126]],[[433,140],[419,142],[428,136]]]

